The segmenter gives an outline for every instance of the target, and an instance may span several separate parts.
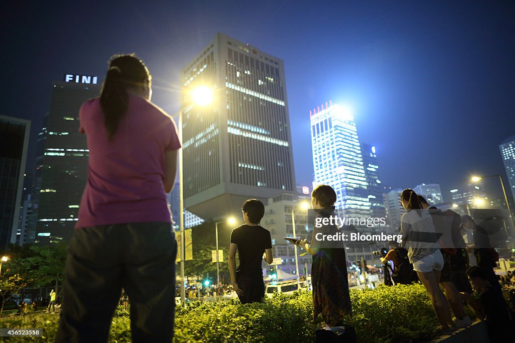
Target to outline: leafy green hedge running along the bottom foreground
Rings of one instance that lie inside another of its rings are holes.
[[[360,342],[403,342],[430,339],[437,329],[430,298],[422,285],[380,286],[375,290],[351,290],[353,324]],[[242,305],[232,299],[193,302],[177,308],[177,342],[312,342],[312,294],[274,295],[262,303]],[[57,316],[41,316],[0,322],[0,327],[44,328],[45,339],[54,341]],[[49,319],[49,320],[48,320]],[[27,322],[29,320],[29,322]],[[36,320],[36,322],[30,322]],[[130,342],[128,312],[119,308],[111,326],[111,342]]]

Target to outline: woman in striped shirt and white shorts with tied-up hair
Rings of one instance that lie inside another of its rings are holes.
[[[435,226],[431,214],[422,209],[417,194],[411,189],[401,193],[401,203],[406,213],[401,218],[402,245],[409,243],[408,258],[431,296],[431,303],[442,332],[452,331],[449,303],[438,285],[443,258],[437,243]]]

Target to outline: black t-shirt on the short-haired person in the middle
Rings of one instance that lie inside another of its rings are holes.
[[[263,275],[261,262],[265,249],[272,248],[270,231],[261,226],[242,225],[231,233],[231,243],[238,245],[239,266],[237,275]]]

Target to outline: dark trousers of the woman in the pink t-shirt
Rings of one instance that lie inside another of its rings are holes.
[[[68,249],[56,342],[107,342],[122,287],[132,341],[173,341],[177,242],[169,223],[79,228]]]

